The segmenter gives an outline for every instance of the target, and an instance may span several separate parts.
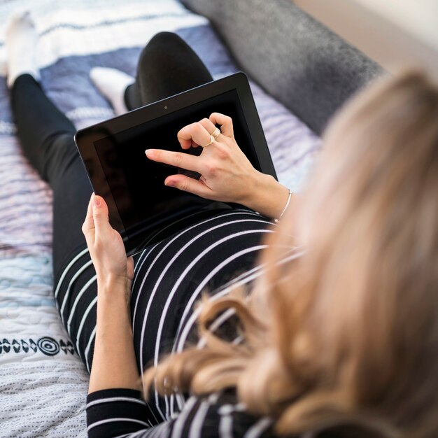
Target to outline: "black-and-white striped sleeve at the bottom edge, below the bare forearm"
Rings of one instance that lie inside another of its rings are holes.
[[[246,433],[254,438],[273,437],[269,418],[246,413],[235,397],[190,397],[174,418],[159,425],[148,420],[148,406],[140,391],[115,388],[87,396],[89,438],[229,438]]]

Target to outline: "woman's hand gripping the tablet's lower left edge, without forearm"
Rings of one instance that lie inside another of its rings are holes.
[[[134,278],[134,260],[126,256],[122,236],[108,220],[108,206],[104,198],[92,195],[87,217],[82,226],[88,250],[97,274],[99,289],[122,285],[127,292]]]

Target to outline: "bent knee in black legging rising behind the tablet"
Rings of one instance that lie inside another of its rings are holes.
[[[141,52],[134,84],[127,87],[129,111],[213,80],[198,55],[178,35],[160,32]]]

